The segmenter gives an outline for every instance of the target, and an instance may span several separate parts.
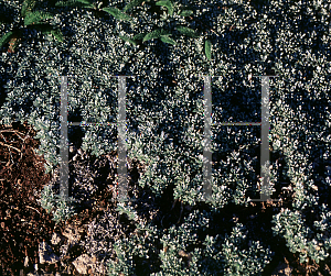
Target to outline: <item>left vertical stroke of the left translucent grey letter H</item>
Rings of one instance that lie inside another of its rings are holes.
[[[61,179],[60,195],[68,197],[68,142],[67,142],[67,77],[61,77]]]

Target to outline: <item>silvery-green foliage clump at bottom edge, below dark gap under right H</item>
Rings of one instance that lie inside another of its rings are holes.
[[[248,231],[241,223],[229,236],[199,234],[200,230],[209,229],[210,220],[211,213],[194,210],[181,225],[164,230],[160,239],[163,250],[159,253],[162,271],[151,275],[258,275],[263,272],[274,255],[269,249],[259,241],[248,241]]]

